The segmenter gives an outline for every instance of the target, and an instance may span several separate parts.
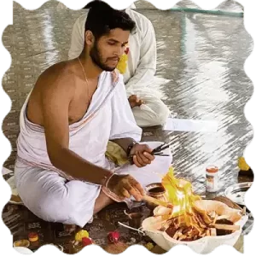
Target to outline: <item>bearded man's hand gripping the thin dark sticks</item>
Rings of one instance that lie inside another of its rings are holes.
[[[136,144],[131,148],[130,155],[133,155],[132,160],[137,167],[148,166],[154,160],[154,155],[150,154],[153,149],[147,144]]]

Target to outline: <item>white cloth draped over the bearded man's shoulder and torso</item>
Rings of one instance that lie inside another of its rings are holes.
[[[119,79],[122,79],[121,75]],[[110,73],[103,72],[101,74],[98,87],[84,118],[69,127],[71,150],[85,160],[107,168],[108,161],[105,159],[105,152],[109,139],[132,137],[136,141],[140,141],[142,131],[134,121],[124,93],[125,88],[122,81],[113,84]],[[43,127],[34,125],[26,119],[28,98],[29,96],[20,113],[18,158],[43,168],[53,169],[55,167],[49,161]],[[120,102],[124,105],[123,108],[120,108]],[[98,131],[101,136],[95,137],[93,131]],[[88,146],[84,147],[84,143]]]

